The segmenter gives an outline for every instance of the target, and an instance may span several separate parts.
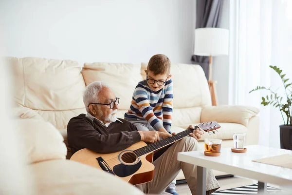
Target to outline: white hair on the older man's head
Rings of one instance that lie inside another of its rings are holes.
[[[87,112],[90,112],[90,109],[88,107],[90,103],[98,103],[98,93],[103,87],[109,87],[109,85],[107,85],[107,83],[103,81],[94,81],[87,85],[87,87],[85,88],[83,94],[83,103]]]

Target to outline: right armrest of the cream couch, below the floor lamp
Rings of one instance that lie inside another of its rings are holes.
[[[259,109],[252,106],[207,106],[202,109],[201,122],[232,122],[248,126],[249,120],[255,117]]]

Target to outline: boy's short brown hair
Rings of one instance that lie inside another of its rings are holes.
[[[170,73],[170,60],[163,54],[152,56],[148,62],[147,71],[152,71],[154,75]]]

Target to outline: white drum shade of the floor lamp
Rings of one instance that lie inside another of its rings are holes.
[[[194,54],[198,56],[228,55],[229,31],[224,28],[195,29]]]

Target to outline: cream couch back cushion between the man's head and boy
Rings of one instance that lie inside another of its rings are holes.
[[[128,110],[134,89],[142,80],[140,67],[140,64],[130,63],[85,63],[81,73],[86,85],[93,81],[106,81],[120,98],[119,109]]]

